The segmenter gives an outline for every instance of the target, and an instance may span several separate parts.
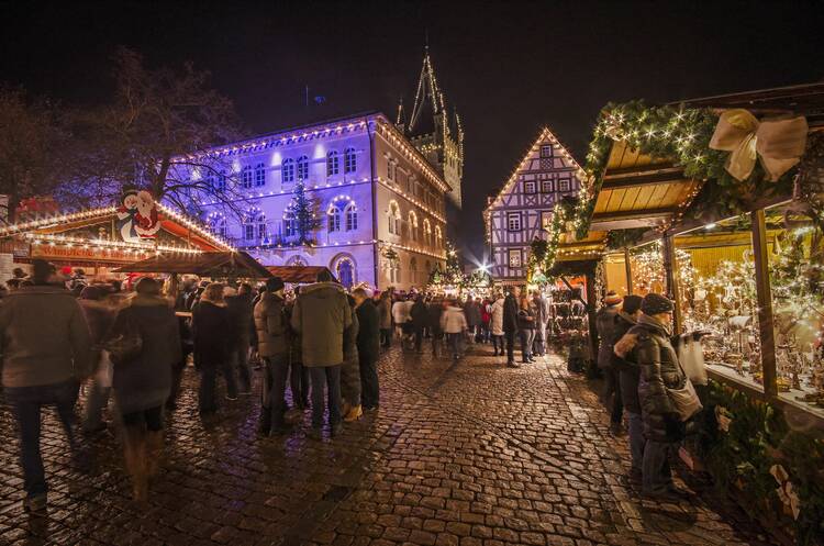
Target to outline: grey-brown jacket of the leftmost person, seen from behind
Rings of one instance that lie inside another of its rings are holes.
[[[23,287],[0,305],[4,387],[36,387],[86,377],[91,336],[80,304],[62,287]]]

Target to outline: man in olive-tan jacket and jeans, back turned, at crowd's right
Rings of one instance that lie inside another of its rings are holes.
[[[324,387],[329,389],[329,420],[332,435],[342,432],[341,365],[343,336],[352,326],[352,308],[343,287],[333,281],[332,274],[318,274],[318,282],[303,287],[294,303],[292,328],[302,336],[303,366],[312,379],[312,431],[320,439],[323,426]]]

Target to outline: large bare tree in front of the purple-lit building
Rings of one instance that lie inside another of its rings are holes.
[[[115,56],[111,104],[73,116],[73,176],[60,197],[111,203],[124,189],[147,189],[158,201],[191,215],[248,210],[232,151],[240,123],[232,102],[209,87],[209,73],[191,63],[147,68],[122,48]]]

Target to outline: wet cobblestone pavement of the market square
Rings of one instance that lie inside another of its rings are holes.
[[[639,500],[623,439],[591,386],[548,357],[506,369],[487,347],[453,365],[394,349],[379,412],[331,442],[304,426],[256,437],[255,397],[203,422],[194,377],[170,416],[148,509],[129,500],[112,434],[73,460],[46,412],[47,517],[20,508],[14,425],[0,410],[0,544],[769,544],[700,482],[691,501]]]

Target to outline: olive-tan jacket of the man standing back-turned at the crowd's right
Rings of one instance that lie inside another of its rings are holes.
[[[291,325],[301,334],[303,366],[343,364],[343,335],[352,326],[352,308],[336,282],[303,287],[294,302]]]

